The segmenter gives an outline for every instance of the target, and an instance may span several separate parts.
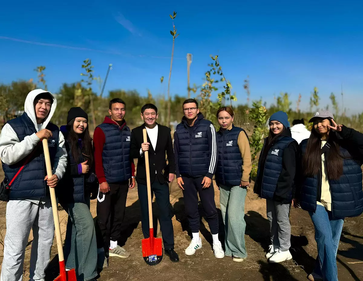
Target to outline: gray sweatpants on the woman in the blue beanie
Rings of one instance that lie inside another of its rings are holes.
[[[270,223],[271,244],[284,252],[290,249],[290,204],[266,200],[267,218]]]

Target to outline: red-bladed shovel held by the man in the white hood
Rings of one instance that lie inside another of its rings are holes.
[[[52,173],[52,164],[50,164],[48,140],[43,139],[42,143],[44,150],[46,172],[49,179],[50,177],[53,176],[53,173]],[[56,228],[56,238],[57,238],[58,257],[59,257],[59,275],[56,279],[54,279],[54,281],[77,281],[76,270],[74,268],[66,271],[66,266],[64,263],[64,255],[63,255],[61,227],[59,224],[59,216],[58,216],[58,203],[56,198],[56,191],[54,190],[54,188],[49,188],[49,191],[50,191],[50,200],[52,200],[53,219],[54,219],[54,227]]]

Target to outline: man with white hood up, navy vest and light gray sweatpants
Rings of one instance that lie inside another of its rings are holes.
[[[25,248],[33,229],[29,278],[44,280],[54,239],[54,222],[49,188],[55,188],[65,173],[67,152],[58,127],[50,123],[56,98],[41,89],[25,99],[24,114],[8,121],[0,134],[0,158],[8,183],[20,167],[23,170],[11,185],[6,206],[6,235],[1,281],[21,281]],[[41,140],[48,139],[53,176],[48,179]]]

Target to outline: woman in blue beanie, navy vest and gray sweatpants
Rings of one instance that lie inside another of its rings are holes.
[[[266,258],[270,263],[292,258],[290,249],[290,205],[294,196],[294,178],[298,143],[291,138],[287,114],[278,111],[269,119],[269,135],[258,161],[254,193],[266,199],[271,245]]]

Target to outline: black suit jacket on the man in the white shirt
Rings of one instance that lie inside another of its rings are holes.
[[[141,144],[144,142],[142,130],[145,125],[136,127],[131,131],[131,156],[138,159],[136,169],[136,182],[146,184],[146,170],[145,170],[145,157],[144,154],[140,156]],[[147,142],[149,146],[149,169],[150,169],[150,182],[153,183],[156,176],[161,184],[168,182],[169,174],[175,174],[175,158],[174,148],[171,140],[171,130],[169,127],[158,124],[158,140],[156,141],[156,148],[152,147],[149,136]],[[166,163],[165,152],[168,159]],[[156,174],[155,174],[156,170]]]

